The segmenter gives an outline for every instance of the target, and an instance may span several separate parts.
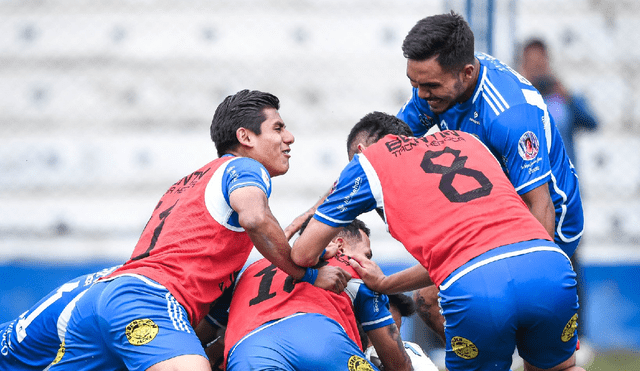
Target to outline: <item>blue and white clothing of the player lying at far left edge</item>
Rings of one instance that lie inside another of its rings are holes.
[[[0,370],[43,370],[56,359],[77,300],[117,267],[77,277],[45,296],[20,317],[0,326]]]

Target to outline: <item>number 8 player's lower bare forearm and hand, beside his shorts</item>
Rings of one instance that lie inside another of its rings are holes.
[[[382,294],[397,294],[433,285],[427,269],[420,264],[386,276],[380,267],[369,259],[350,259],[349,264],[370,289]]]

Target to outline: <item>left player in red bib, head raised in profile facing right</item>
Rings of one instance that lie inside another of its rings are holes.
[[[301,268],[268,204],[289,169],[293,135],[272,94],[242,90],[218,106],[219,158],[158,202],[131,258],[76,303],[51,370],[210,370],[194,327],[233,283],[253,246],[296,280],[340,292],[339,267]]]

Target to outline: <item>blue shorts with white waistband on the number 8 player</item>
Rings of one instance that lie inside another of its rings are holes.
[[[508,370],[516,346],[546,369],[576,349],[576,274],[549,241],[488,251],[449,275],[439,295],[450,371]]]

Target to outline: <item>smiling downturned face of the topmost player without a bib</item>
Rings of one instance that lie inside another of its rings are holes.
[[[407,77],[418,96],[427,101],[435,114],[443,113],[461,102],[465,93],[464,72],[451,73],[442,69],[436,57],[416,61],[407,59]]]

